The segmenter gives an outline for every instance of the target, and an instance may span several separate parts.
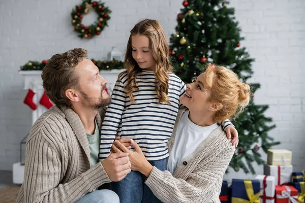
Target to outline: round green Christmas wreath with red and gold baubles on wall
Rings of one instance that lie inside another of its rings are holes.
[[[98,21],[95,21],[89,26],[85,26],[81,23],[83,14],[88,14],[95,10],[98,14]],[[95,35],[100,35],[101,31],[107,25],[107,21],[110,19],[109,13],[111,11],[108,7],[104,6],[101,2],[92,2],[91,0],[84,0],[81,5],[75,6],[71,13],[72,25],[74,30],[79,33],[80,38],[92,38]]]

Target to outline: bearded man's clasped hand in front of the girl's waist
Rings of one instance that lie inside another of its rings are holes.
[[[102,161],[102,165],[111,181],[120,181],[131,172],[128,155],[124,152],[112,153]]]

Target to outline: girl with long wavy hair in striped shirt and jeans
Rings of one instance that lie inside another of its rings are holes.
[[[115,136],[139,143],[146,159],[161,171],[167,169],[167,141],[171,137],[186,85],[172,73],[165,33],[156,20],[142,20],[130,31],[125,67],[118,76],[101,130],[99,158],[110,154]],[[232,123],[230,130],[235,130]],[[145,177],[132,171],[110,189],[121,202],[160,202],[144,184]]]

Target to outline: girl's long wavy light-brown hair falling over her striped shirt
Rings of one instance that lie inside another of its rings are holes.
[[[130,100],[135,102],[133,92],[139,90],[136,83],[136,76],[142,71],[138,63],[132,57],[131,37],[143,35],[149,39],[149,49],[156,61],[154,70],[156,82],[156,92],[160,103],[170,104],[168,97],[168,73],[172,72],[170,63],[169,46],[165,37],[164,30],[157,20],[145,19],[138,22],[130,31],[127,43],[124,65],[127,69],[128,82],[126,85],[127,95]]]

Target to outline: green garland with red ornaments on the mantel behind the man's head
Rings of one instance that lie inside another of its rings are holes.
[[[117,60],[95,60],[91,59],[92,62],[98,66],[99,70],[113,70],[113,69],[124,69],[124,62],[123,61],[117,61]],[[21,71],[41,71],[48,63],[47,60],[43,60],[41,62],[39,61],[28,61],[25,65],[22,65],[20,67]]]

